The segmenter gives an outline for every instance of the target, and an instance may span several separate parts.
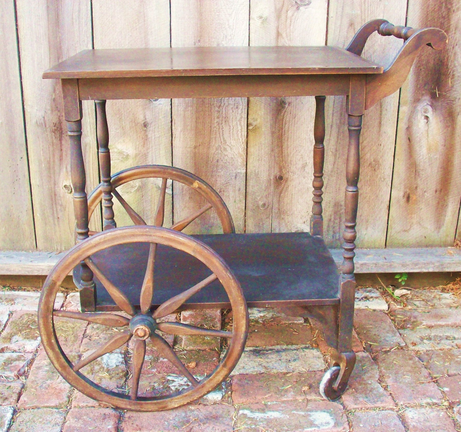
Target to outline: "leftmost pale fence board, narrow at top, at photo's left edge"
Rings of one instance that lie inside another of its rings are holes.
[[[14,3],[0,4],[0,249],[35,249]]]

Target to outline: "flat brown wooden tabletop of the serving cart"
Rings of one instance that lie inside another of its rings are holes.
[[[382,66],[339,47],[176,47],[84,50],[43,78],[382,72]]]

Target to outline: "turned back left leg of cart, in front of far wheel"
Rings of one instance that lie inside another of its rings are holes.
[[[99,167],[102,183],[102,218],[103,229],[115,228],[112,202],[111,153],[109,150],[109,128],[106,117],[106,101],[96,100],[96,134],[99,149]]]

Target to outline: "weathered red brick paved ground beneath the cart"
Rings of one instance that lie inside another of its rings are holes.
[[[0,291],[0,432],[461,431],[461,300],[450,292],[409,290],[398,302],[374,288],[358,290],[357,363],[349,389],[337,402],[319,394],[328,357],[319,322],[254,308],[247,348],[231,378],[200,401],[152,413],[104,406],[60,377],[40,344],[38,298],[37,292]],[[60,294],[55,309],[79,310],[78,295]],[[230,329],[232,314],[187,311],[165,321]],[[72,361],[120,330],[68,318],[55,322]],[[217,338],[171,337],[168,342],[198,379],[225,352]],[[127,392],[131,355],[129,344],[82,372],[106,388]],[[140,392],[157,396],[187,385],[148,347]]]

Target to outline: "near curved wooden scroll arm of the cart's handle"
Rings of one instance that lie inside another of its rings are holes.
[[[408,34],[408,28],[403,29],[397,29],[396,31],[402,31],[402,35],[404,32]],[[415,30],[382,74],[366,76],[365,109],[370,108],[380,99],[389,96],[402,87],[421,47],[429,45],[436,50],[440,50],[445,47],[447,42],[447,35],[441,29]]]

